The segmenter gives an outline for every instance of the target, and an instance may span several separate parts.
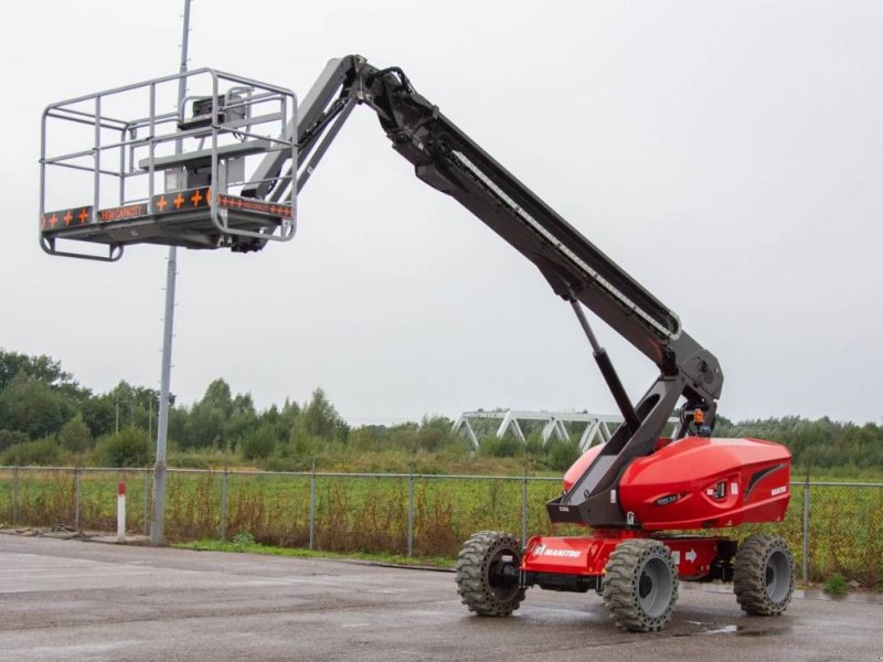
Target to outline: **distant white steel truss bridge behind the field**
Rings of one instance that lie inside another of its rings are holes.
[[[478,437],[472,429],[470,420],[475,419],[492,419],[499,420],[500,426],[497,428],[497,438],[501,439],[506,433],[512,433],[515,438],[522,444],[526,444],[524,431],[521,429],[519,421],[523,420],[541,420],[545,421],[543,430],[540,435],[543,446],[554,436],[561,441],[568,442],[571,435],[564,424],[585,425],[583,434],[579,437],[579,450],[586,451],[595,444],[606,444],[610,440],[616,428],[623,423],[623,417],[609,414],[587,414],[572,413],[572,412],[524,412],[517,409],[486,412],[479,409],[477,412],[464,412],[454,424],[454,431],[465,429],[469,441],[472,444],[472,450],[478,450]],[[678,419],[672,417],[669,423],[677,424]]]

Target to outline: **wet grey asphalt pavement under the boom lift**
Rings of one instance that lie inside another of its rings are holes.
[[[756,618],[682,586],[670,627],[637,634],[594,592],[534,588],[480,618],[445,572],[0,535],[0,660],[883,662],[879,604]]]

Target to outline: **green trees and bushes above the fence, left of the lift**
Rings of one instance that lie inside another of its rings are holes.
[[[120,382],[94,394],[49,356],[0,350],[0,465],[146,467],[159,394]],[[251,467],[268,471],[521,473],[525,465],[560,472],[578,455],[575,440],[546,448],[539,431],[529,448],[512,439],[488,444],[479,457],[453,420],[351,428],[317,388],[302,404],[286,401],[258,410],[249,394],[215,380],[190,406],[169,414],[169,466]]]

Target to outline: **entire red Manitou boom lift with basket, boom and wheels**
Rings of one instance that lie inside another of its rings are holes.
[[[173,98],[181,89],[203,94]],[[41,246],[114,261],[132,244],[247,253],[288,241],[298,192],[357,105],[376,113],[417,178],[530,259],[573,307],[624,418],[606,444],[567,471],[562,494],[546,505],[553,523],[591,533],[535,536],[523,548],[509,533],[475,534],[457,562],[466,607],[509,616],[533,586],[594,589],[621,627],[650,631],[671,619],[679,581],[716,579],[734,583],[748,613],[781,613],[795,579],[784,540],[763,534],[740,544],[684,532],[780,522],[790,498],[790,453],[769,441],[713,438],[723,386],[715,356],[674,312],[417,94],[398,67],[376,68],[358,55],[332,60],[300,104],[283,87],[213,70],[52,104],[42,127]],[[504,114],[506,105],[492,111]],[[50,149],[55,131],[64,152]],[[577,163],[575,154],[571,166]],[[58,172],[85,180],[56,182]],[[72,205],[64,195],[76,190],[85,200]],[[89,244],[106,255],[65,247]],[[659,376],[636,403],[584,308],[658,366]],[[674,410],[680,424],[663,438]]]

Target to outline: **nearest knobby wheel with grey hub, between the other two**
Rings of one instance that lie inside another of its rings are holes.
[[[604,605],[616,622],[632,632],[655,632],[669,624],[678,601],[678,570],[659,541],[632,538],[616,546],[604,568]]]

